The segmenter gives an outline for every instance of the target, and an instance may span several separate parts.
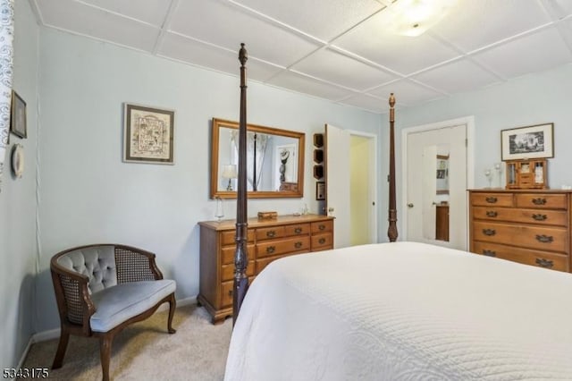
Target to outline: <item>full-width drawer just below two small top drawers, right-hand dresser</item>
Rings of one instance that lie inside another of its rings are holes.
[[[473,217],[490,221],[567,226],[565,210],[523,209],[518,207],[473,207]]]

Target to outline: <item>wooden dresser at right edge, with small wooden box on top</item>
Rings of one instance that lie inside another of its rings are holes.
[[[571,190],[469,190],[469,250],[570,271]]]

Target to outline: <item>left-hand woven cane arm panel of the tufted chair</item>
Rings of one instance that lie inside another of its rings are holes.
[[[81,326],[84,334],[91,334],[89,318],[96,307],[89,296],[88,276],[58,265],[56,258],[52,258],[50,270],[62,323]]]

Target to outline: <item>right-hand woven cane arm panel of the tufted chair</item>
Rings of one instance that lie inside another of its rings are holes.
[[[156,255],[132,246],[114,245],[117,284],[163,279],[156,266]]]

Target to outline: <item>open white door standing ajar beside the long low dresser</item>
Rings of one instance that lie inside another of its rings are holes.
[[[349,246],[349,131],[325,125],[326,210],[335,216],[334,249]]]

